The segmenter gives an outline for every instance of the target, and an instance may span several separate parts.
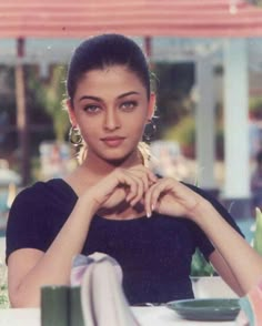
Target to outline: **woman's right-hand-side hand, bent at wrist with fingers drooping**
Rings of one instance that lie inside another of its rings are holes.
[[[195,208],[203,201],[203,197],[181,182],[163,177],[147,191],[144,206],[148,216],[155,211],[171,216],[192,217]]]

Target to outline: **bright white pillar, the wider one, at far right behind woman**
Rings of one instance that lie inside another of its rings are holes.
[[[244,39],[224,43],[225,198],[249,198],[249,75]]]

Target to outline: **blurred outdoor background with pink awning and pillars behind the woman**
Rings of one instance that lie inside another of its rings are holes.
[[[152,169],[205,189],[251,236],[254,205],[260,205],[252,179],[262,179],[256,173],[261,6],[244,0],[0,0],[1,234],[21,189],[62,177],[77,164],[62,109],[73,49],[90,35],[119,32],[143,48],[152,71],[158,94]]]

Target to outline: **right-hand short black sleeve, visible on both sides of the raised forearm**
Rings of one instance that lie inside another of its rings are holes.
[[[187,186],[189,186],[191,190],[193,190],[194,192],[196,192],[198,194],[200,194],[201,196],[203,196],[206,201],[209,201],[213,205],[213,207],[219,212],[219,214],[238,233],[240,233],[244,237],[243,233],[241,232],[240,227],[235,223],[234,218],[230,215],[230,213],[225,210],[225,207],[219,201],[216,201],[212,195],[210,195],[205,191],[203,191],[194,185],[187,184],[187,183],[184,183],[184,184]],[[208,236],[204,234],[204,232],[195,223],[193,223],[192,230],[193,230],[193,237],[195,240],[196,246],[199,247],[201,253],[204,255],[205,259],[209,259],[210,255],[214,251],[214,246],[212,245],[212,243],[210,242]]]

